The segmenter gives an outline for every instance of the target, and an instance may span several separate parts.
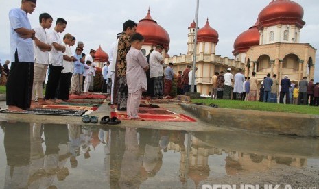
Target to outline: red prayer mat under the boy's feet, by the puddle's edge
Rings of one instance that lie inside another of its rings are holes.
[[[176,114],[164,108],[139,108],[138,115],[141,117],[141,121],[196,121],[189,116]],[[129,119],[125,111],[110,112],[110,116],[115,116],[121,120]]]

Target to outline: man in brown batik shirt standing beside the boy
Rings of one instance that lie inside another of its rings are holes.
[[[128,102],[128,83],[126,80],[126,54],[130,51],[131,36],[137,31],[137,23],[128,20],[123,23],[123,32],[119,37],[119,43],[117,45],[117,62],[115,68],[117,86],[117,110],[126,111],[126,105]],[[114,59],[114,57],[113,57]]]

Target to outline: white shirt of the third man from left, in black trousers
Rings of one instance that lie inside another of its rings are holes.
[[[56,32],[54,29],[51,29],[47,32],[47,42],[49,45],[52,45],[54,42],[58,43],[58,45],[63,45],[58,32]],[[62,51],[57,51],[56,48],[52,47],[52,50],[49,51],[49,64],[52,66],[62,66]]]

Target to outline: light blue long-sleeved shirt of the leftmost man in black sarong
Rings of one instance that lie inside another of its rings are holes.
[[[34,62],[33,42],[31,38],[21,38],[14,29],[24,27],[31,29],[27,13],[21,8],[14,8],[9,12],[10,20],[10,53],[11,62],[15,62],[14,53],[18,50],[19,62]]]

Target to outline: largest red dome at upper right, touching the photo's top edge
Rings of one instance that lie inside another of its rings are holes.
[[[272,0],[268,6],[261,10],[259,21],[259,29],[278,24],[295,24],[300,28],[305,25],[303,8],[298,3],[290,0]]]

